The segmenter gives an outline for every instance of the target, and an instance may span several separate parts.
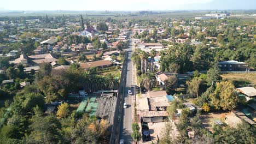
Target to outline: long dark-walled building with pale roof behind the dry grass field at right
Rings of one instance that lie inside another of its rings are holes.
[[[221,71],[247,71],[249,68],[245,62],[224,61],[219,62],[219,69]]]

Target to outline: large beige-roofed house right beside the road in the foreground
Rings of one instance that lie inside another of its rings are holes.
[[[142,94],[138,101],[139,116],[143,122],[164,122],[169,106],[166,91],[154,91]]]

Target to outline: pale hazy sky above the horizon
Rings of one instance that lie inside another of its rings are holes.
[[[256,0],[0,0],[0,10],[256,9]]]

